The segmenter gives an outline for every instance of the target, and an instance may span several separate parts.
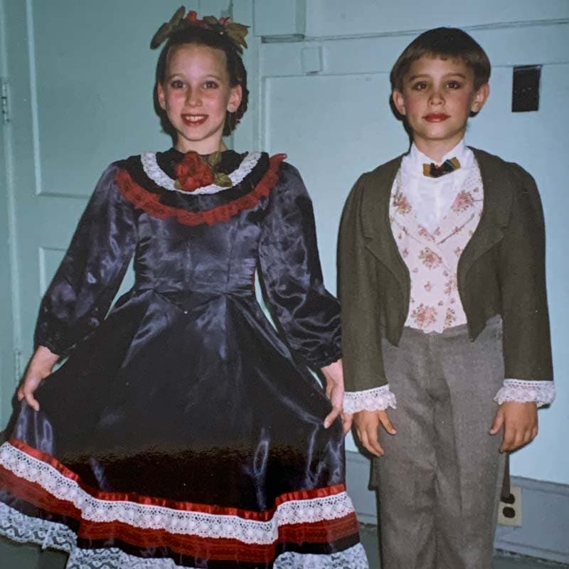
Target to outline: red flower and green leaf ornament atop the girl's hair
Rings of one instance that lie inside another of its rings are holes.
[[[233,43],[233,46],[235,46],[235,49],[238,50],[239,53],[243,53],[243,48],[247,48],[245,36],[247,36],[249,26],[244,26],[243,23],[231,22],[229,18],[218,19],[216,16],[203,16],[202,20],[198,20],[197,12],[190,10],[188,14],[186,14],[184,6],[176,10],[169,22],[164,22],[158,28],[158,31],[154,34],[150,42],[150,47],[152,49],[157,48],[172,34],[189,26],[205,28],[206,30],[218,33],[220,36],[225,36]]]

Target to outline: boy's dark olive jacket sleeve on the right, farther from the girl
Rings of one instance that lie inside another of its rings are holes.
[[[533,178],[517,164],[499,275],[506,378],[553,380],[543,211]]]

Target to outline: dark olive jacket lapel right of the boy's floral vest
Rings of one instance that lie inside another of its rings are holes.
[[[472,151],[482,176],[484,206],[480,223],[459,259],[458,280],[463,286],[474,261],[503,238],[513,192],[509,176],[504,176],[503,162],[482,150]]]

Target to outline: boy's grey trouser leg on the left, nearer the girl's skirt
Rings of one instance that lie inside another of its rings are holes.
[[[398,434],[380,428],[385,456],[374,464],[382,569],[435,569],[435,432],[432,402],[421,383],[430,360],[427,346],[413,348],[383,343],[385,371],[398,398],[388,413]]]

